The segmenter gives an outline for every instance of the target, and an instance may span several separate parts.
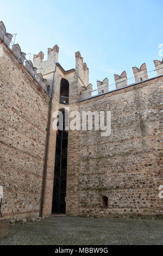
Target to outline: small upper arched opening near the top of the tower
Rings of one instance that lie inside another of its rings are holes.
[[[68,104],[68,96],[69,96],[69,83],[65,78],[62,78],[60,82],[60,103]]]

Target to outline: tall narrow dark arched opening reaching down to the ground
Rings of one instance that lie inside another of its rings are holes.
[[[57,131],[53,185],[52,214],[66,213],[66,175],[67,175],[67,142],[68,131],[65,130],[65,110],[63,114],[62,130]]]

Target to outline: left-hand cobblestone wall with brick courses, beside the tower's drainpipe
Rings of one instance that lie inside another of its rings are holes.
[[[0,57],[2,213],[10,218],[40,214],[50,98],[3,44]]]

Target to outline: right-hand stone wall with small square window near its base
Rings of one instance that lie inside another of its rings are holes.
[[[79,132],[79,216],[162,217],[162,85],[161,76],[79,102],[80,113],[111,111],[109,137]]]

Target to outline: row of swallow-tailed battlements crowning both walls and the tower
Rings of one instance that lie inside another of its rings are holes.
[[[54,45],[53,48],[47,49],[47,60],[44,60],[44,53],[42,51],[38,54],[34,54],[32,63],[30,60],[26,59],[26,53],[21,51],[20,45],[12,43],[12,34],[6,32],[6,28],[2,21],[0,22],[0,38],[2,42],[11,48],[12,52],[25,66],[30,75],[32,75],[40,86],[49,93],[49,87],[52,86],[52,73],[55,69],[55,63],[58,62],[58,45]],[[110,90],[123,88],[130,84],[148,80],[151,77],[163,75],[163,59],[161,61],[154,60],[155,70],[153,71],[153,74],[152,72],[147,72],[146,63],[143,63],[140,68],[137,68],[136,66],[132,68],[134,77],[128,79],[126,71],[123,71],[121,75],[114,75],[115,84],[109,85],[108,78],[105,78],[103,81],[97,81],[97,90],[92,91],[93,86],[89,83],[89,68],[87,67],[87,64],[83,62],[83,57],[79,51],[75,53],[75,57],[76,70],[73,69],[73,71],[76,72],[78,77],[78,94],[82,95],[82,99],[91,97],[92,94],[94,96],[95,94],[107,93]],[[65,75],[65,71],[62,67],[60,70],[64,72]],[[46,79],[43,77],[46,77]]]

